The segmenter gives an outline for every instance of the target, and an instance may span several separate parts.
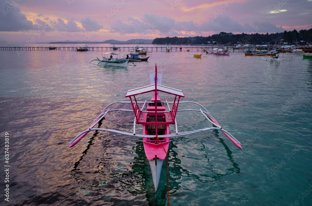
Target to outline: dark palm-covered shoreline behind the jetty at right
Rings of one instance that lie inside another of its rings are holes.
[[[279,44],[285,42],[290,45],[306,45],[312,42],[312,28],[305,30],[302,29],[299,32],[284,31],[280,33],[272,34],[232,34],[226,32],[220,32],[208,37],[164,37],[154,39],[152,44],[175,44],[175,45],[209,45],[209,44]]]

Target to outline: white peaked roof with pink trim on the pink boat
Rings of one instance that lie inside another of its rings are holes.
[[[127,92],[125,97],[139,95],[139,94],[144,94],[144,93],[152,92],[152,91],[155,91],[155,84],[150,84],[150,85],[147,85],[147,86],[143,86],[143,87],[139,87],[139,88],[128,90],[128,92]],[[184,94],[183,94],[182,90],[174,89],[174,88],[171,88],[171,87],[168,87],[168,86],[163,86],[163,85],[157,84],[157,91],[162,91],[162,92],[167,93],[167,94],[172,94],[172,95],[175,95],[175,96],[184,97]]]

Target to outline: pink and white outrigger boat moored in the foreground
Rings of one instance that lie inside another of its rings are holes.
[[[183,91],[174,89],[171,87],[163,86],[161,83],[162,74],[157,74],[157,66],[155,66],[155,74],[149,74],[150,85],[139,87],[136,89],[128,90],[125,97],[129,97],[130,101],[113,102],[107,105],[100,113],[100,115],[94,120],[90,127],[77,135],[71,142],[70,146],[76,145],[89,131],[101,130],[122,135],[134,136],[137,138],[143,138],[144,152],[146,158],[149,160],[149,165],[152,172],[153,182],[155,190],[157,191],[158,183],[160,179],[161,169],[163,161],[167,158],[170,138],[177,136],[190,135],[197,132],[203,132],[207,130],[221,130],[224,135],[227,136],[238,148],[241,148],[241,143],[237,141],[229,132],[224,130],[215,120],[208,110],[202,105],[192,101],[180,101],[181,97],[184,97]],[[137,101],[137,97],[140,94],[153,92],[152,99],[150,101]],[[161,101],[158,92],[163,92],[174,96],[174,101]],[[131,104],[133,110],[123,109],[108,109],[114,104]],[[139,107],[139,104],[142,107]],[[202,109],[187,109],[178,110],[179,104],[196,104]],[[170,106],[171,105],[171,106]],[[168,110],[166,110],[166,107]],[[141,109],[140,109],[141,108]],[[144,110],[145,108],[145,110]],[[134,112],[134,126],[133,133],[110,130],[102,128],[93,128],[108,112],[124,111]],[[197,111],[201,112],[208,121],[210,121],[214,127],[203,128],[200,130],[193,130],[187,132],[178,132],[176,114],[180,111]],[[157,117],[157,118],[156,118]],[[136,134],[136,125],[143,126],[143,134]],[[175,125],[175,131],[170,134],[169,125]]]

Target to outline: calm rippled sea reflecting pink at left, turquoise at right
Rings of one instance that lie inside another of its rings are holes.
[[[243,148],[217,131],[172,138],[170,205],[311,205],[312,60],[158,49],[136,66],[89,64],[101,53],[0,51],[1,205],[167,205],[166,164],[155,192],[142,139],[97,131],[68,148],[106,105],[148,85],[155,63],[163,85],[205,106]],[[198,113],[177,121],[180,132],[211,127]],[[133,115],[100,124],[130,132]]]

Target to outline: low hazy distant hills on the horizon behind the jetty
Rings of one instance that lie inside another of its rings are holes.
[[[103,42],[85,41],[84,44],[152,44],[154,39],[130,39],[128,41],[118,41],[114,39],[106,40]],[[61,41],[50,42],[50,44],[81,44],[80,41]]]

